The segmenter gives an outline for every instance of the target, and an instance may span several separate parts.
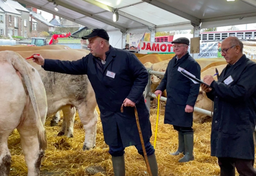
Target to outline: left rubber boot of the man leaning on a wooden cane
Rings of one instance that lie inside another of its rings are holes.
[[[126,168],[124,164],[124,155],[122,156],[113,156],[112,164],[115,176],[125,176]]]

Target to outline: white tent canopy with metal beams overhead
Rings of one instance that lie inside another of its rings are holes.
[[[16,0],[86,27],[156,32],[256,23],[255,0]],[[54,3],[59,11],[54,10]],[[119,20],[113,22],[113,11]],[[192,24],[192,25],[191,25]]]

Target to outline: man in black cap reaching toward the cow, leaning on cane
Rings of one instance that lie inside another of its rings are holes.
[[[135,145],[143,155],[135,118],[136,105],[152,174],[157,175],[154,148],[150,144],[152,131],[149,112],[143,98],[143,90],[148,83],[146,68],[134,54],[111,47],[104,29],[93,29],[91,34],[82,39],[89,40],[91,53],[80,60],[49,60],[34,55],[34,62],[42,65],[46,71],[88,75],[100,109],[104,140],[109,145],[116,176],[125,175],[125,147]],[[124,112],[121,112],[123,103]]]

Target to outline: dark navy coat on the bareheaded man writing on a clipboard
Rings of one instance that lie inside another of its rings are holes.
[[[229,76],[233,81],[226,85]],[[254,160],[253,132],[256,118],[256,63],[245,55],[226,66],[207,96],[214,101],[211,155]]]

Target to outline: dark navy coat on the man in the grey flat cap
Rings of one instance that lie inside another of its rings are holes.
[[[191,127],[193,112],[185,112],[186,105],[194,106],[198,97],[200,84],[194,84],[178,68],[183,68],[200,79],[200,65],[194,58],[185,54],[176,63],[176,56],[168,63],[165,75],[156,90],[167,92],[164,123],[179,127]]]

